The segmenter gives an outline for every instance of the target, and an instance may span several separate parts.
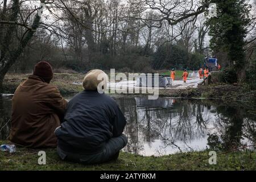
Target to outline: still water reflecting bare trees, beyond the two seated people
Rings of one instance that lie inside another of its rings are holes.
[[[70,99],[71,96],[66,97]],[[167,155],[256,143],[256,107],[246,102],[113,96],[127,119],[124,149],[140,155]],[[0,140],[10,131],[11,96],[0,97]],[[255,147],[253,147],[255,150]],[[252,149],[253,149],[252,148]]]

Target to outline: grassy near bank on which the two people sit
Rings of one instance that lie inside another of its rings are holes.
[[[1,142],[3,144],[6,142]],[[117,161],[82,165],[60,160],[55,149],[47,149],[46,165],[38,164],[38,152],[18,148],[13,154],[0,151],[0,170],[255,170],[256,154],[251,151],[217,153],[217,164],[210,165],[209,152],[189,152],[161,157],[121,152]]]

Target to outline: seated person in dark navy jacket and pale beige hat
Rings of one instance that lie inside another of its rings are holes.
[[[117,159],[126,146],[127,138],[122,134],[126,119],[113,98],[102,93],[107,81],[108,76],[101,70],[88,72],[84,91],[69,101],[64,122],[55,130],[61,159],[104,163]]]

